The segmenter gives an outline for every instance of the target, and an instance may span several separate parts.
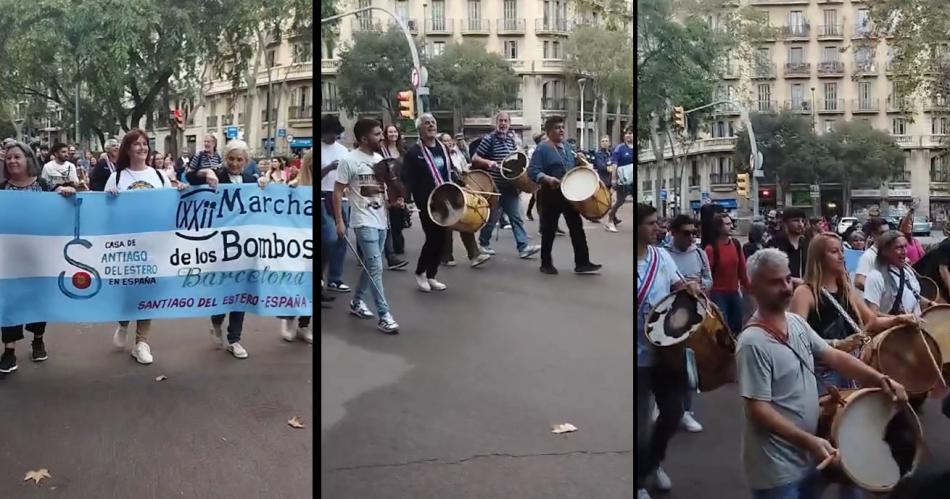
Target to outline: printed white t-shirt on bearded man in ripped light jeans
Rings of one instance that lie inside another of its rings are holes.
[[[359,149],[353,149],[340,160],[336,182],[346,184],[349,192],[350,227],[389,228],[386,186],[373,175],[373,165],[382,160],[378,153],[370,156]]]

